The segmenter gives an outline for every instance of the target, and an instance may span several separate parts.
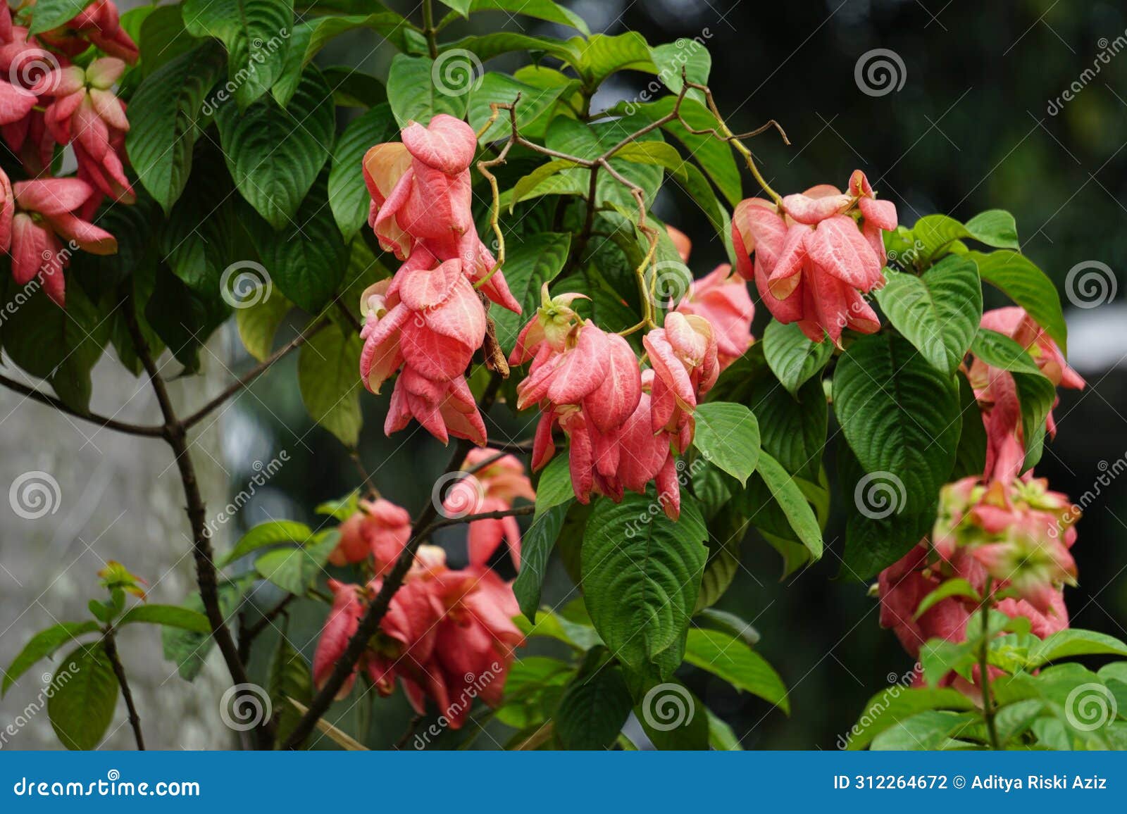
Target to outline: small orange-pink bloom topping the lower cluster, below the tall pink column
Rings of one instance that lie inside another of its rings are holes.
[[[470,450],[462,463],[462,469],[472,469],[496,455],[497,450],[488,448]],[[468,488],[474,492],[473,495],[469,496],[469,504],[465,501],[463,485],[468,485]],[[473,514],[503,512],[512,508],[517,497],[535,501],[536,493],[532,489],[532,483],[524,474],[524,464],[515,455],[502,455],[485,469],[480,469],[474,475],[454,484],[443,505],[447,511],[454,513],[459,513],[467,505],[471,507]],[[521,567],[521,527],[517,524],[516,517],[474,520],[470,523],[468,531],[470,565],[483,567],[497,547],[500,546],[500,541],[505,540],[508,543],[513,565],[516,568]]]

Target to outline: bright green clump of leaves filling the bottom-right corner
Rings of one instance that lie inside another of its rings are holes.
[[[1040,639],[1029,620],[990,611],[967,622],[966,642],[932,639],[920,654],[924,685],[873,696],[849,738],[850,749],[948,750],[1127,749],[1127,661],[1092,671],[1077,656],[1127,656],[1127,644],[1093,630],[1066,629]],[[987,711],[944,676],[975,679],[985,661],[1006,674],[991,681]]]

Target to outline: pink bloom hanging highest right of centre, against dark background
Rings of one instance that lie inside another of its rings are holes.
[[[863,334],[880,327],[861,294],[884,285],[881,232],[895,228],[896,207],[877,201],[857,170],[849,193],[819,185],[787,195],[779,207],[760,198],[742,201],[733,213],[731,237],[737,271],[755,280],[774,318],[798,322],[813,342],[828,333],[837,344],[846,327]],[[748,262],[753,251],[754,265]]]

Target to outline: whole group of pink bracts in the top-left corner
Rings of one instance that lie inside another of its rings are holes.
[[[34,6],[27,14],[34,16]],[[95,45],[109,56],[86,69],[71,56]],[[114,237],[89,222],[101,201],[132,203],[123,157],[128,121],[114,83],[137,47],[122,29],[117,7],[96,0],[72,20],[38,36],[12,24],[0,7],[0,134],[29,176],[12,185],[0,170],[0,248],[12,257],[20,285],[39,275],[52,300],[64,304],[62,269],[74,249],[117,250]],[[78,178],[51,178],[56,144],[70,144]],[[42,177],[42,176],[48,177]],[[73,245],[64,249],[62,240]]]

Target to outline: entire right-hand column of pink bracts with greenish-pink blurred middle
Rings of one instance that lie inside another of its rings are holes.
[[[1033,356],[1045,375],[1059,387],[1080,389],[1084,380],[1024,310],[1001,308],[983,315],[982,326],[1003,333]],[[987,583],[995,608],[1011,618],[1029,619],[1032,632],[1045,637],[1068,627],[1064,586],[1075,584],[1076,564],[1070,549],[1080,512],[1068,498],[1048,489],[1032,472],[1019,477],[1024,460],[1021,409],[1013,375],[973,359],[967,374],[986,427],[986,471],[948,484],[940,493],[940,512],[931,538],[880,574],[880,623],[891,628],[904,648],[919,656],[930,638],[964,642],[977,603],[950,596],[916,618],[917,608],[943,581],[961,577],[980,595]],[[1055,433],[1051,413],[1046,419]],[[975,683],[951,673],[943,683],[973,698]],[[991,667],[991,675],[1001,671]],[[919,682],[919,679],[917,679]]]

